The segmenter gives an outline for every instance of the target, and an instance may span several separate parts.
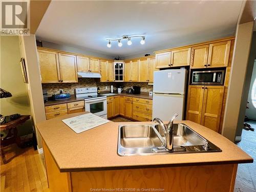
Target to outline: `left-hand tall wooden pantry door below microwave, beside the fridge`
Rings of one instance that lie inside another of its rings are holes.
[[[186,120],[201,123],[204,86],[188,86]]]

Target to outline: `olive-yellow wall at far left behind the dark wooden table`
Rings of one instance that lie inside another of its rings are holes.
[[[19,65],[20,52],[17,36],[1,36],[1,77],[0,87],[12,94],[12,97],[0,99],[1,114],[19,113],[30,115],[27,84],[23,82],[22,70]],[[31,121],[20,127],[19,135],[32,133]]]

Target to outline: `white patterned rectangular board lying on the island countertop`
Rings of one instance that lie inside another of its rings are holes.
[[[76,133],[81,133],[93,129],[96,126],[110,122],[108,119],[103,119],[102,117],[92,113],[63,119],[62,121]]]

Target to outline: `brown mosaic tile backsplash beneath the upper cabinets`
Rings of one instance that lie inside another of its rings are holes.
[[[132,86],[140,86],[141,92],[149,92],[153,90],[153,86],[147,82],[100,82],[99,78],[78,78],[77,83],[42,83],[42,89],[46,89],[48,96],[59,93],[62,89],[64,93],[74,94],[75,88],[83,87],[99,87],[100,91],[110,91],[110,86],[114,86],[114,91],[121,86],[123,90],[131,88]],[[105,89],[107,87],[107,89]]]

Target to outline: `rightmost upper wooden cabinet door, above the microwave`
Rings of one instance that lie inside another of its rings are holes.
[[[227,67],[231,41],[210,44],[208,54],[208,68]]]

